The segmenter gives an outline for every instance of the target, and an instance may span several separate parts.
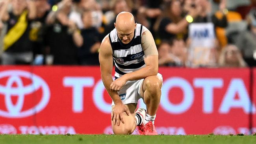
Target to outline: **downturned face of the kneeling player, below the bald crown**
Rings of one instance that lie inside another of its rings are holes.
[[[119,28],[119,26],[116,26],[116,24],[115,24],[115,27],[117,29],[117,36],[119,37],[119,39],[122,41],[123,44],[128,44],[130,41],[132,41],[132,38],[134,37],[135,27],[123,29],[123,28]]]

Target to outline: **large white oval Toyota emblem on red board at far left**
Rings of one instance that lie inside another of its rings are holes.
[[[3,85],[3,81],[6,81],[6,84]],[[37,91],[41,93],[38,94]],[[32,104],[27,105],[26,96],[30,96],[28,98]],[[41,99],[37,100],[38,96]],[[13,103],[13,98],[16,98],[16,103]],[[0,107],[0,116],[22,118],[42,111],[50,100],[50,90],[46,82],[35,74],[22,70],[7,70],[0,72],[0,100],[5,103],[5,108]]]

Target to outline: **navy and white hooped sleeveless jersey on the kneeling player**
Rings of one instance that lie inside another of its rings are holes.
[[[109,33],[109,41],[113,50],[113,59],[115,62],[115,77],[134,72],[145,67],[144,51],[141,47],[141,35],[148,29],[141,24],[137,24],[134,37],[128,44],[123,44],[117,36],[117,30]]]

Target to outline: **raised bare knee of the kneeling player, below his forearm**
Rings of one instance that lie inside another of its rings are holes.
[[[162,81],[158,76],[149,76],[144,79],[143,85],[145,90],[148,90],[149,92],[160,92]]]

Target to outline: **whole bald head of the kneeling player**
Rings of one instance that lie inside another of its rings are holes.
[[[134,16],[129,12],[121,12],[117,15],[114,24],[119,39],[121,39],[123,43],[130,42],[134,36],[134,30],[136,28]]]

